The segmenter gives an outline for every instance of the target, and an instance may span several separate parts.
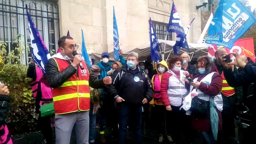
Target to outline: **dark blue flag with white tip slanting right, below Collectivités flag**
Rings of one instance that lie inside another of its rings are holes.
[[[187,28],[185,29],[185,37],[183,37],[182,35],[180,34],[177,34],[176,36],[176,43],[175,45],[173,46],[173,50],[174,50],[174,55],[178,55],[179,54],[179,50],[182,48],[185,48],[186,50],[189,50],[189,46],[188,46],[188,41],[187,41],[187,34],[188,34],[188,31],[190,29],[190,26],[191,24],[193,23],[195,18],[193,18],[193,20],[190,22],[190,24],[187,26]]]

